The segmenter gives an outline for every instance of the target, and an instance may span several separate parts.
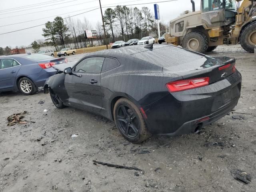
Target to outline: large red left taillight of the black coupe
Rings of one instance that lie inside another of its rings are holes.
[[[170,92],[178,92],[178,91],[184,91],[188,89],[194,89],[194,88],[206,86],[209,84],[209,81],[210,81],[210,77],[180,80],[180,81],[167,83],[166,87]]]

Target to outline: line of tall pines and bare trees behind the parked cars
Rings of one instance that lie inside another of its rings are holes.
[[[65,47],[65,44],[74,44],[75,48],[83,48],[93,46],[93,42],[97,41],[98,45],[113,43],[116,40],[127,41],[132,38],[142,38],[149,36],[150,32],[156,32],[157,21],[154,14],[148,7],[127,7],[116,6],[114,9],[107,8],[104,11],[104,24],[106,28],[106,38],[104,40],[104,32],[102,21],[98,21],[95,27],[92,27],[90,21],[84,17],[83,20],[75,18],[63,19],[60,16],[54,18],[52,22],[46,22],[42,29],[44,40],[35,40],[31,43],[34,52],[40,50],[42,46],[54,46],[56,50]],[[160,22],[160,31],[165,31],[168,26]],[[84,31],[96,30],[97,39],[86,40]],[[157,34],[157,33],[155,33]],[[24,47],[22,47],[24,48]],[[0,55],[10,54],[10,47],[0,48]]]

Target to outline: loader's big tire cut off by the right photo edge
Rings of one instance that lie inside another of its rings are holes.
[[[240,44],[244,50],[250,53],[254,52],[254,47],[256,46],[256,22],[252,22],[242,30]]]

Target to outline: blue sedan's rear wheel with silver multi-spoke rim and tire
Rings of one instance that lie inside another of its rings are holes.
[[[18,81],[18,88],[24,95],[32,95],[37,91],[34,82],[27,77],[22,77]]]

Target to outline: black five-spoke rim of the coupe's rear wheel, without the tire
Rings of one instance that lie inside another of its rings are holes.
[[[140,123],[135,112],[128,106],[122,104],[117,108],[118,126],[123,134],[129,138],[138,136],[140,131]]]

